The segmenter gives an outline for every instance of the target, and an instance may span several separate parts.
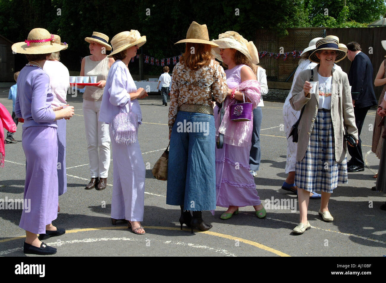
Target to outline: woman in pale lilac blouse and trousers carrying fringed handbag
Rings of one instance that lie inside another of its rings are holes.
[[[138,99],[146,97],[147,92],[142,87],[137,89],[128,64],[145,42],[146,36],[141,37],[137,30],[120,32],[111,39],[114,51],[108,57],[113,57],[115,62],[108,72],[100,106],[100,122],[111,124],[116,114],[121,110],[124,113],[129,112],[131,106],[141,124],[142,114]],[[113,151],[111,222],[113,225],[119,220],[129,222],[133,233],[145,234],[141,226],[144,217],[145,164],[139,142],[136,140],[129,145],[117,143],[112,127],[109,129]]]

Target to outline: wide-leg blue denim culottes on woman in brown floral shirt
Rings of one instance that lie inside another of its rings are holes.
[[[170,138],[166,204],[215,209],[215,174],[213,115],[179,111]]]

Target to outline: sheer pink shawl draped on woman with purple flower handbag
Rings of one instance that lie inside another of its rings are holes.
[[[245,80],[237,85],[236,90],[244,92],[245,96],[252,102],[252,109],[260,102],[260,83],[257,80]],[[253,113],[252,121],[234,122],[230,120],[230,105],[237,102],[236,99],[230,99],[229,96],[223,102],[225,114],[220,125],[220,115],[215,119],[215,126],[219,133],[224,134],[224,143],[232,146],[251,146],[252,128],[253,128]],[[218,107],[214,111],[217,113]]]

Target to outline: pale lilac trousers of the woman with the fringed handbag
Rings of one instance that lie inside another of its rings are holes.
[[[111,128],[110,138],[113,151],[111,218],[143,221],[146,170],[139,142],[117,144]]]

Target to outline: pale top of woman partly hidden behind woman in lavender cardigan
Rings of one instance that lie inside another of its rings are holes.
[[[51,106],[66,105],[67,90],[70,87],[70,75],[66,66],[59,61],[46,61],[43,70],[49,76],[49,86],[52,89],[54,99]]]

